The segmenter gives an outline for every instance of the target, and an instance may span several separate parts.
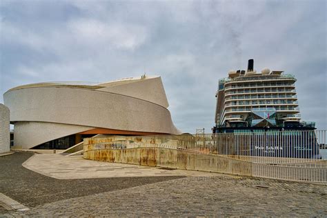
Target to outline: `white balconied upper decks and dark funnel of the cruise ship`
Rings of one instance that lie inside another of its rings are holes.
[[[256,72],[253,63],[248,60],[248,70],[230,70],[219,80],[214,132],[314,128],[315,123],[300,122],[295,77],[268,68]]]

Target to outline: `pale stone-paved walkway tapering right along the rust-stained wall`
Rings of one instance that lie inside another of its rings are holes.
[[[23,163],[29,170],[55,179],[92,179],[112,177],[215,176],[210,172],[171,170],[132,164],[90,161],[79,156],[35,154]]]

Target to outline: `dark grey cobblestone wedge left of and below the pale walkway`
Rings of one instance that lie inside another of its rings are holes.
[[[0,157],[0,192],[28,207],[72,197],[181,178],[181,176],[172,176],[54,179],[21,166],[31,156],[32,153],[16,152],[13,155]]]

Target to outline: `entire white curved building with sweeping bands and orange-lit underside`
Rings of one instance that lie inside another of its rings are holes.
[[[108,83],[34,83],[3,95],[14,146],[64,149],[97,134],[179,134],[160,77]]]

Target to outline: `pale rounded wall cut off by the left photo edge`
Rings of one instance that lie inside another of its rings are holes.
[[[10,151],[10,112],[0,103],[0,153]]]

